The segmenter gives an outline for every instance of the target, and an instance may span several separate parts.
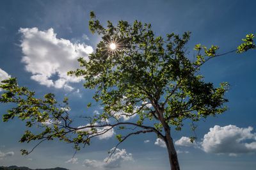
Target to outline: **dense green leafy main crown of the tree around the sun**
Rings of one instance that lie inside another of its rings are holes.
[[[206,57],[214,57],[218,46],[207,49],[200,44],[195,46],[197,59],[192,62],[186,56],[184,47],[190,33],[155,36],[150,24],[137,20],[132,25],[120,21],[113,26],[108,21],[106,28],[100,25],[93,15],[90,29],[102,36],[95,53],[89,60],[79,59],[82,69],[69,72],[86,79],[84,87],[97,89],[94,98],[104,105],[104,115],[124,111],[127,116],[136,112],[138,125],[145,120],[159,121],[154,124],[157,130],[164,123],[181,130],[183,120],[198,121],[209,115],[226,110],[223,104],[226,86],[214,88],[198,75],[200,65]],[[115,42],[117,49],[109,50]],[[205,56],[200,54],[204,49]],[[227,84],[226,84],[227,85]],[[142,102],[152,104],[152,108],[141,106]],[[161,115],[163,114],[163,115]]]

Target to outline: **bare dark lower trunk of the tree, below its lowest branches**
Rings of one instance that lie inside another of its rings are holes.
[[[167,150],[168,150],[171,170],[180,170],[177,152],[174,148],[172,137],[168,133],[166,133],[166,142],[165,143],[166,143]]]

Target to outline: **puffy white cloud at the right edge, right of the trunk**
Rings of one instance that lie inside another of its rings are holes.
[[[235,125],[220,127],[215,125],[204,135],[202,150],[207,153],[227,153],[230,156],[256,152],[256,134],[252,133],[252,130],[252,127],[239,128]]]

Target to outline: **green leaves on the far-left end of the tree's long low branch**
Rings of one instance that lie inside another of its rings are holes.
[[[4,89],[4,93],[0,97],[0,102],[16,104],[16,107],[9,109],[6,114],[3,114],[3,121],[9,121],[17,117],[22,121],[26,121],[26,127],[28,128],[41,128],[41,132],[38,134],[26,130],[20,138],[20,143],[29,143],[35,140],[49,141],[54,138],[67,143],[74,143],[74,141],[71,141],[66,136],[72,130],[61,125],[61,123],[65,125],[71,123],[68,113],[64,109],[68,108],[67,98],[63,100],[63,106],[60,107],[52,93],[44,95],[43,99],[35,98],[35,92],[18,86],[16,78],[6,79],[2,83],[0,88]],[[74,137],[74,140],[76,140],[76,137]],[[22,155],[29,153],[26,150],[21,151]]]

